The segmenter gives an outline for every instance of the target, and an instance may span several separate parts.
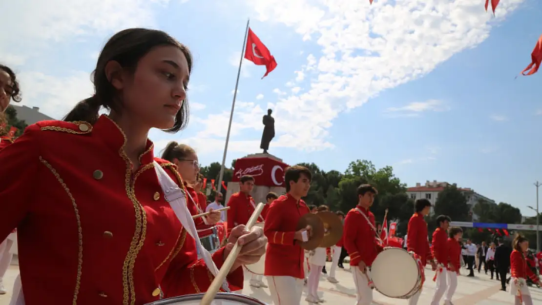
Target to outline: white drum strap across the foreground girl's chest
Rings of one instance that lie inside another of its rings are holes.
[[[218,274],[218,268],[216,268],[215,262],[212,261],[209,251],[203,248],[201,241],[199,241],[196,224],[190,215],[188,207],[186,207],[186,197],[184,196],[184,193],[180,190],[180,187],[175,183],[175,181],[171,179],[169,174],[166,173],[164,168],[162,168],[162,166],[160,166],[156,161],[154,161],[154,170],[156,171],[158,182],[164,191],[166,201],[171,205],[171,209],[173,212],[175,212],[175,215],[179,219],[179,222],[183,225],[184,229],[195,240],[198,258],[202,257],[209,271],[211,271],[212,275],[216,276]],[[222,288],[225,291],[230,292],[228,283],[225,280],[222,283]]]

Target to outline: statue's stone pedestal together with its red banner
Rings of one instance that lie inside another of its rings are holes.
[[[237,159],[233,181],[228,182],[227,185],[225,202],[228,202],[232,194],[239,191],[239,179],[243,175],[254,177],[254,189],[250,195],[256,204],[265,203],[269,192],[274,192],[277,196],[285,194],[284,171],[286,167],[288,165],[282,163],[282,159],[269,153],[249,154]]]

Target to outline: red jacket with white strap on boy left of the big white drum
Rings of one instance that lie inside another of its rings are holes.
[[[369,218],[372,226],[357,209],[350,210],[344,220],[344,247],[350,255],[351,265],[356,266],[363,261],[367,267],[370,267],[383,248],[373,229],[375,215],[364,207],[358,206],[358,208]]]

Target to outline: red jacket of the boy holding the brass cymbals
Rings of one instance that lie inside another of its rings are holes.
[[[264,275],[305,278],[305,254],[294,240],[301,216],[309,213],[303,200],[282,195],[269,206],[263,232],[267,237]]]

